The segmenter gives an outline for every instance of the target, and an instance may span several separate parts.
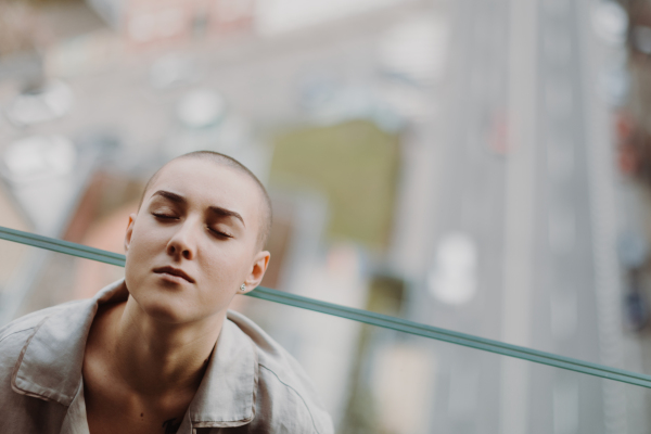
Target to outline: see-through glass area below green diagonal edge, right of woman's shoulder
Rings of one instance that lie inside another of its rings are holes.
[[[644,387],[241,297],[342,433],[644,432]],[[275,321],[272,318],[282,318]]]

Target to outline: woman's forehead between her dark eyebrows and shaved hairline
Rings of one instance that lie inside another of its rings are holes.
[[[193,205],[227,207],[250,217],[260,213],[260,192],[255,181],[242,171],[216,162],[175,159],[158,171],[144,200],[151,200],[158,190],[180,194]]]

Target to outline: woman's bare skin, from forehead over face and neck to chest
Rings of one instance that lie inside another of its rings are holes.
[[[103,306],[87,341],[91,434],[177,432],[230,301],[267,268],[256,189],[231,168],[179,159],[148,190],[125,239],[129,298]]]

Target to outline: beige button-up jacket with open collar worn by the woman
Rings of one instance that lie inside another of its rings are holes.
[[[128,296],[123,282],[0,329],[1,434],[88,434],[86,340],[98,306]],[[333,427],[296,360],[253,321],[229,311],[178,433],[330,434]]]

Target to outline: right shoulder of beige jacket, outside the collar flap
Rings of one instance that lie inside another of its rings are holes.
[[[245,316],[229,311],[228,319],[253,341],[258,363],[256,413],[267,432],[333,433],[332,420],[303,368],[280,344]],[[272,430],[278,424],[278,430]],[[271,426],[269,426],[271,425]]]

